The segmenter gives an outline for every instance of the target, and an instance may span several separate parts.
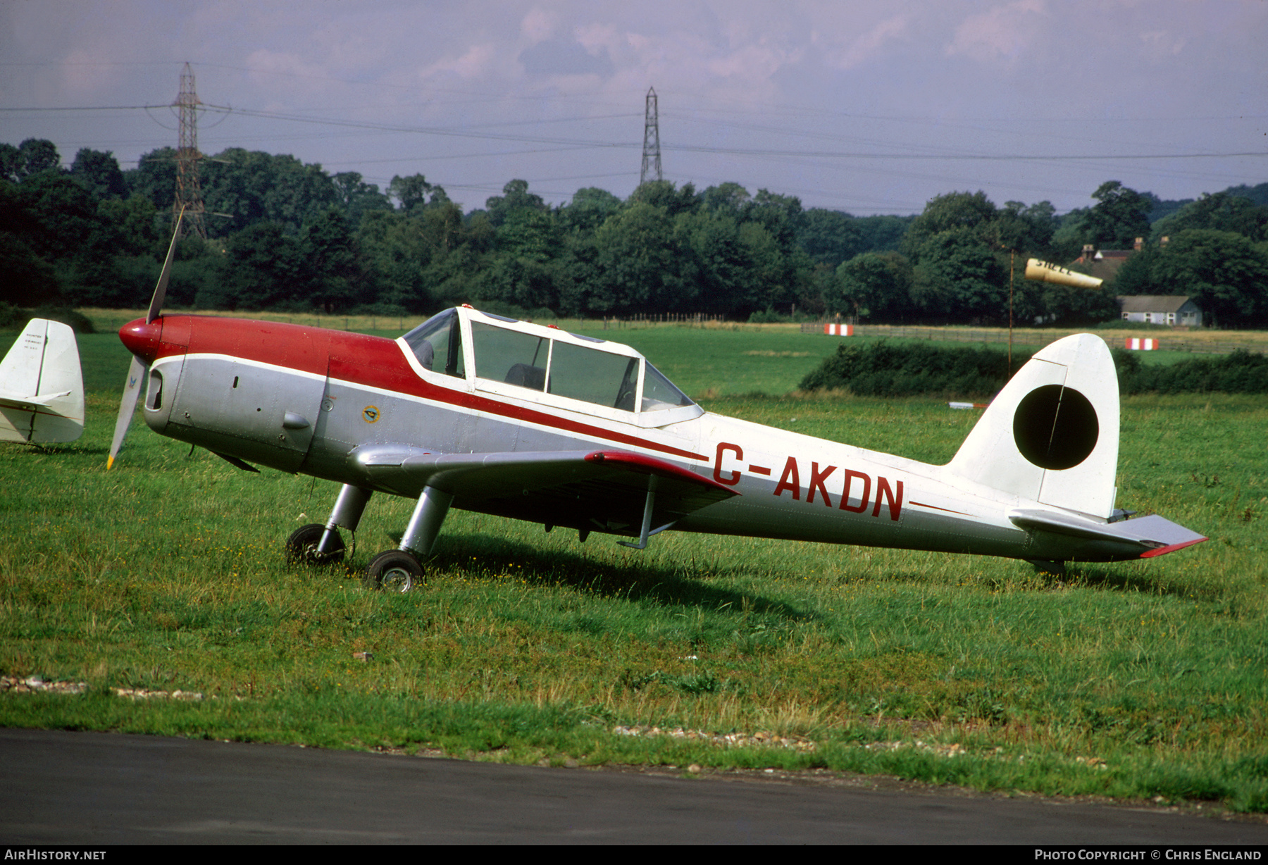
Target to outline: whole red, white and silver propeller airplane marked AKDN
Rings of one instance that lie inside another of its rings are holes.
[[[170,261],[170,257],[169,257]],[[141,383],[146,424],[252,464],[342,485],[292,559],[341,561],[374,492],[417,501],[365,583],[424,576],[449,509],[637,539],[667,529],[1064,562],[1150,558],[1205,540],[1115,507],[1118,384],[1092,335],[1037,353],[946,465],[704,411],[634,349],[446,309],[397,340],[317,327],[143,320],[110,460]]]

